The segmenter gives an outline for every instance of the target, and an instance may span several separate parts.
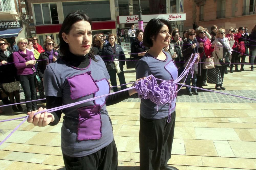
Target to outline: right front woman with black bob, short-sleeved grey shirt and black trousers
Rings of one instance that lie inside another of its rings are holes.
[[[165,19],[151,19],[147,23],[143,44],[150,49],[136,64],[136,78],[152,74],[158,79],[176,80],[179,73],[185,69],[188,63],[178,70],[172,59],[176,58],[176,55],[170,56],[169,53],[162,51],[169,45],[170,29],[170,24]],[[175,101],[176,98],[171,103],[169,115],[169,103],[157,110],[156,104],[149,99],[141,99],[140,169],[177,169],[167,166],[174,136]]]

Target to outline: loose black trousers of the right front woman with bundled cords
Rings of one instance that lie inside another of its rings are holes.
[[[163,119],[146,119],[140,116],[140,169],[159,170],[167,167],[171,158],[175,127],[175,111]]]

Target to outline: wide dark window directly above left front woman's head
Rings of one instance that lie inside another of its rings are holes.
[[[111,20],[109,1],[63,2],[62,6],[64,18],[73,11],[81,10],[86,12],[92,21]]]

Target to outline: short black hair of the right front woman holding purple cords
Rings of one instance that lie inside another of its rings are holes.
[[[169,21],[167,21],[166,19],[162,19],[162,18],[153,18],[151,19],[147,25],[146,28],[144,30],[144,36],[143,36],[143,45],[145,45],[146,47],[152,47],[153,46],[153,42],[151,38],[156,38],[157,34],[159,33],[159,31],[161,30],[161,28],[167,25],[169,31],[171,30],[171,25],[169,23]]]

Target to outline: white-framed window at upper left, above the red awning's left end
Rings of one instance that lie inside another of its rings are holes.
[[[58,24],[57,4],[33,4],[36,25]]]

